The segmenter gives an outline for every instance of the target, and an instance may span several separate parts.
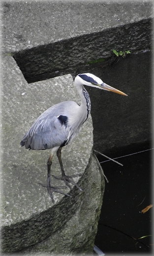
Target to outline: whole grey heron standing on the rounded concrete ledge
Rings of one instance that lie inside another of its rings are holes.
[[[81,104],[79,105],[76,102],[69,100],[48,108],[37,118],[20,142],[20,145],[22,147],[25,146],[26,149],[51,149],[51,155],[47,161],[47,186],[43,184],[41,185],[47,188],[53,202],[53,192],[68,195],[59,191],[60,188],[51,187],[50,185],[51,164],[55,152],[57,152],[57,157],[61,166],[62,177],[52,176],[64,181],[65,185],[70,189],[72,189],[70,186],[70,184],[72,184],[82,191],[82,189],[71,179],[80,176],[81,174],[74,174],[72,176],[65,175],[62,165],[61,151],[62,147],[72,142],[79,133],[81,126],[90,115],[90,96],[84,86],[91,86],[126,96],[123,92],[103,83],[100,78],[90,73],[78,74],[74,79],[74,85],[80,95]]]

